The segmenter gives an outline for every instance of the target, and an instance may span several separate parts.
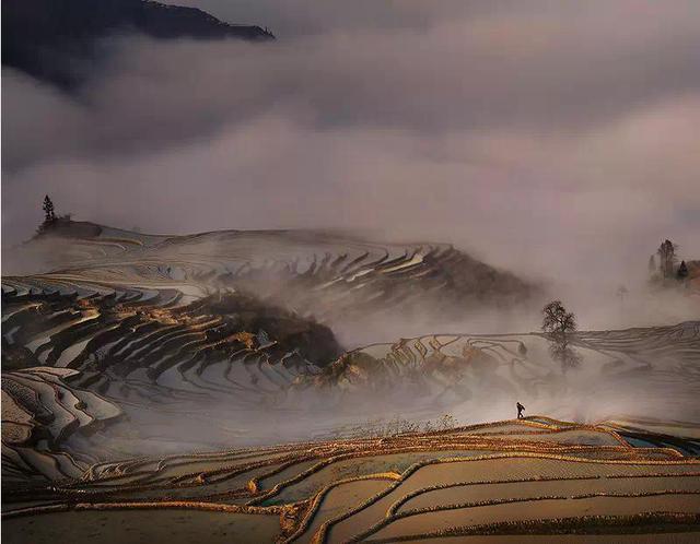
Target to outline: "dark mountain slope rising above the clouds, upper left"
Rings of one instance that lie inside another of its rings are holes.
[[[122,33],[160,39],[275,39],[259,26],[229,24],[195,8],[150,0],[5,0],[2,64],[72,87],[100,57],[96,40]]]

